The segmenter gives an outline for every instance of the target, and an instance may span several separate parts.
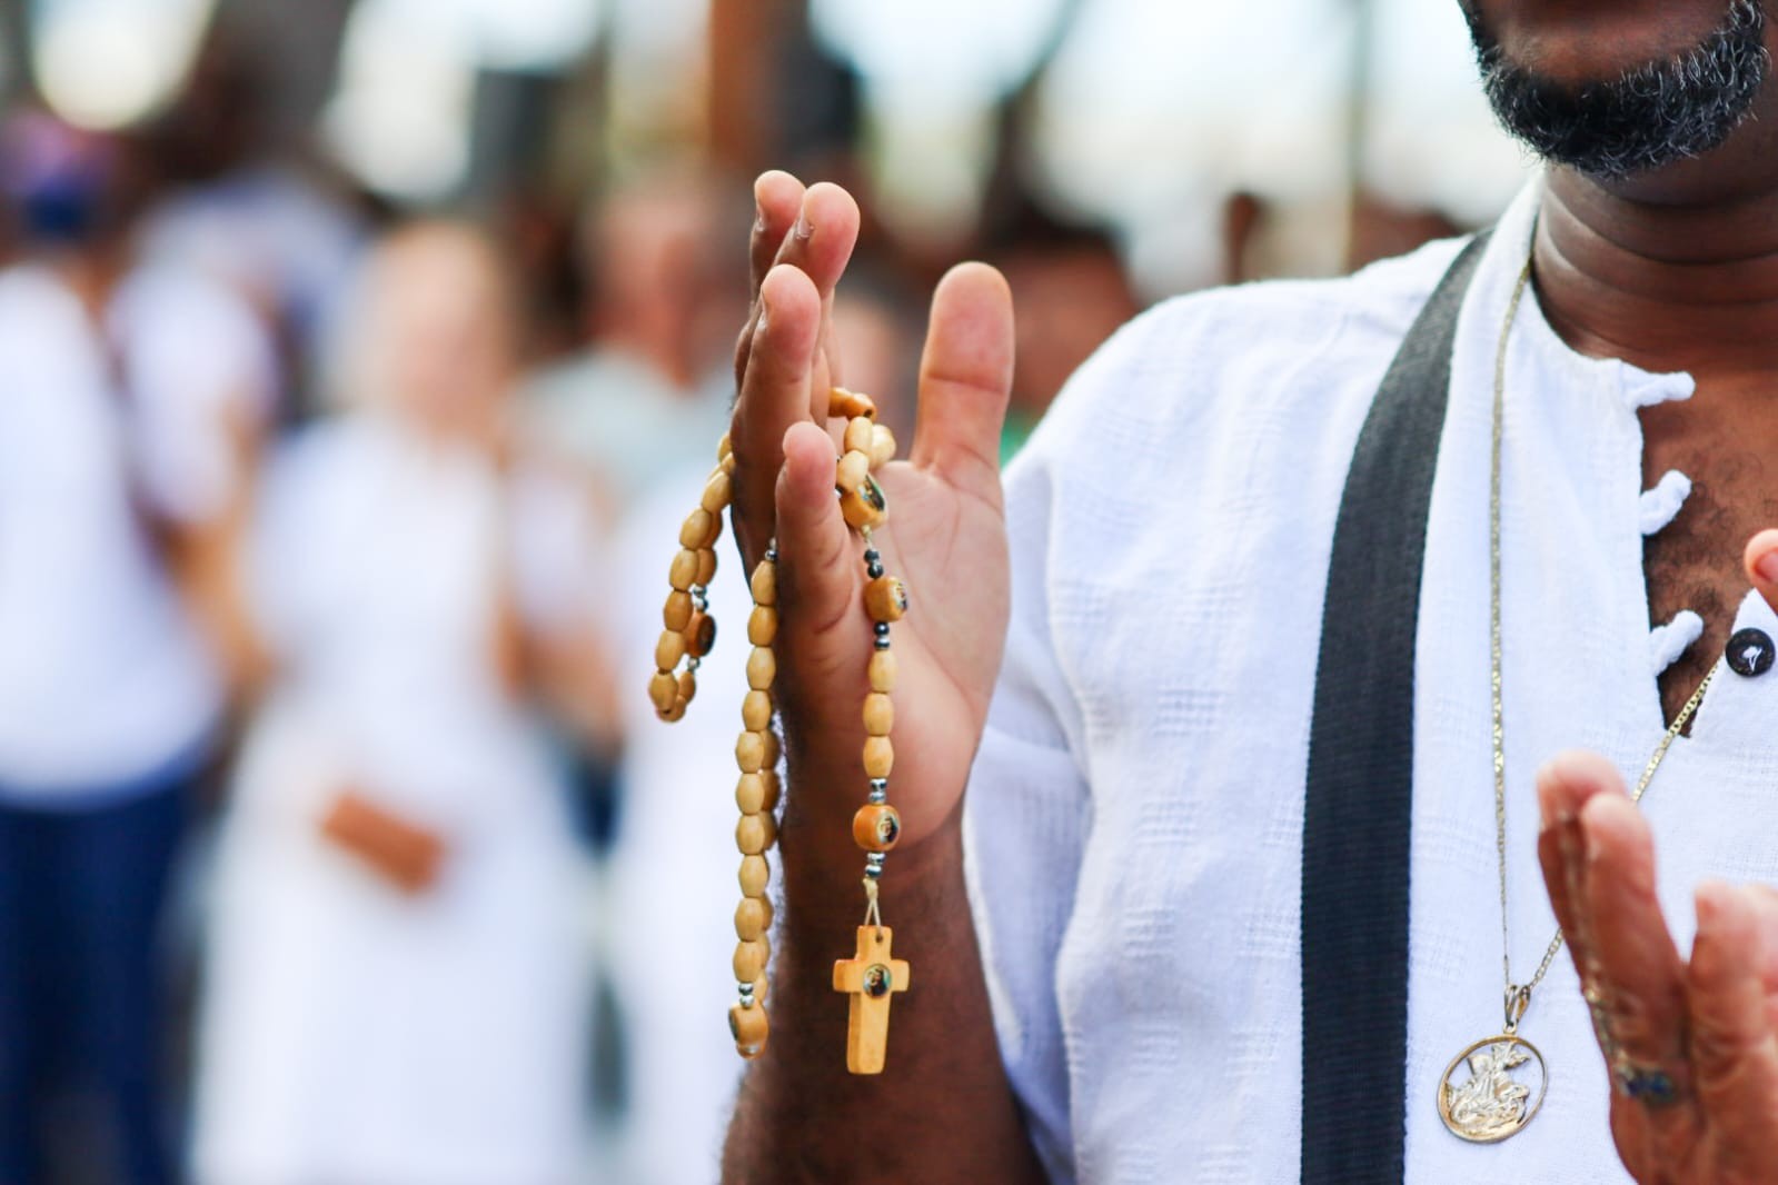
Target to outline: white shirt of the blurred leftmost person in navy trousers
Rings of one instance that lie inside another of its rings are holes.
[[[212,728],[219,680],[144,519],[213,515],[238,480],[228,423],[272,393],[251,313],[192,275],[133,272],[105,334],[53,272],[0,274],[0,783],[37,807]]]

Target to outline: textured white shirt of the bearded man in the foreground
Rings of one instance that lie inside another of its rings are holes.
[[[1412,1181],[1625,1180],[1566,956],[1522,1029],[1552,1070],[1543,1114],[1506,1144],[1470,1146],[1435,1110],[1446,1064],[1502,1025],[1488,437],[1495,343],[1540,195],[1533,185],[1502,220],[1463,306],[1428,528]],[[1008,474],[1013,622],[969,791],[971,895],[1003,1055],[1058,1181],[1298,1178],[1303,776],[1332,529],[1371,398],[1454,252],[1166,304],[1088,362]],[[1662,734],[1636,412],[1691,391],[1684,375],[1574,354],[1534,298],[1520,311],[1504,451],[1518,977],[1554,933],[1538,764],[1591,748],[1634,778]],[[1767,615],[1750,602],[1742,616]],[[1725,675],[1650,792],[1682,943],[1705,874],[1778,879],[1774,705],[1778,673]]]

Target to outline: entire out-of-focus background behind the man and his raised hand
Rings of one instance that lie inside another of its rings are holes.
[[[1008,274],[1012,455],[1531,169],[1453,0],[5,0],[0,96],[5,1185],[715,1180],[745,684],[644,684],[759,171],[903,439]]]

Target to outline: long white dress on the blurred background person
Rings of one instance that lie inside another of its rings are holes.
[[[311,433],[270,481],[254,590],[283,668],[222,826],[199,1180],[576,1180],[578,865],[548,750],[491,663],[503,569],[533,622],[585,592],[573,522],[537,483],[503,497],[475,458],[372,416]],[[322,840],[348,787],[443,837],[430,892]]]

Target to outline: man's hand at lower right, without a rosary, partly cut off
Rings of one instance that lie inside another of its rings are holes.
[[[1778,531],[1742,560],[1778,611]],[[1604,757],[1538,775],[1538,858],[1611,1073],[1611,1133],[1639,1181],[1778,1181],[1778,892],[1709,883],[1682,959],[1654,833]]]

